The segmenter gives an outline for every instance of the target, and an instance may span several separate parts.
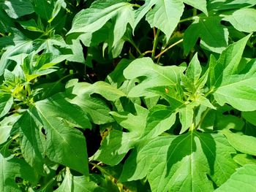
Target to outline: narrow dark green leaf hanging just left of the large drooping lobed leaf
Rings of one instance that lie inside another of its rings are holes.
[[[39,174],[43,172],[45,136],[42,123],[33,115],[33,110],[26,111],[18,120],[20,128],[20,150],[26,162]]]

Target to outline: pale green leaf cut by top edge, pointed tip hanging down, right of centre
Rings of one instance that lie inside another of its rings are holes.
[[[170,39],[184,11],[184,4],[180,0],[153,0],[150,5],[154,7],[146,14],[146,20],[151,28],[159,28]]]

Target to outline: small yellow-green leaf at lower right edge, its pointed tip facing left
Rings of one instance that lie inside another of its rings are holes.
[[[240,151],[241,153],[246,153],[249,155],[256,155],[256,138],[244,135],[244,134],[235,134],[231,131],[222,131],[227,137],[228,142],[232,145],[236,150]]]

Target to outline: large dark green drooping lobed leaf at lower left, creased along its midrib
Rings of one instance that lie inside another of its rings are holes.
[[[85,113],[61,94],[37,101],[30,113],[34,119],[33,126],[41,123],[46,131],[45,152],[48,158],[87,175],[86,139],[81,131],[74,128],[91,128]]]

